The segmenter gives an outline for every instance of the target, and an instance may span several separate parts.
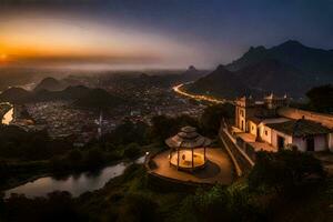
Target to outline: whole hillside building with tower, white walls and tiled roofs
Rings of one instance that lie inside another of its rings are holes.
[[[333,115],[299,114],[306,112],[289,108],[286,97],[270,94],[263,101],[243,97],[235,101],[235,134],[253,147],[266,143],[270,151],[333,151],[333,128],[329,124]]]

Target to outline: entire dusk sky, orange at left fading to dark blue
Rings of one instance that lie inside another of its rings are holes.
[[[0,65],[211,69],[290,39],[333,49],[333,0],[0,0]]]

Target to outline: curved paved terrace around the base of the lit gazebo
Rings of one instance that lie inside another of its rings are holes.
[[[174,167],[170,167],[168,155],[169,151],[165,151],[153,159],[158,165],[153,170],[154,173],[181,181],[199,183],[231,184],[233,181],[233,165],[225,151],[221,148],[208,148],[206,159],[209,162],[204,169],[193,173],[178,171]]]

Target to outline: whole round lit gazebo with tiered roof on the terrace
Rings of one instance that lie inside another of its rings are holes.
[[[178,170],[193,171],[205,165],[205,148],[211,144],[211,140],[200,135],[195,128],[182,128],[178,134],[167,139],[165,143],[170,147],[170,165]]]

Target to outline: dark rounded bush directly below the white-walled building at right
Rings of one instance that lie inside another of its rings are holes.
[[[321,162],[312,155],[295,150],[261,151],[249,175],[249,185],[254,190],[273,188],[278,193],[293,192],[306,184],[311,176],[324,176]]]

